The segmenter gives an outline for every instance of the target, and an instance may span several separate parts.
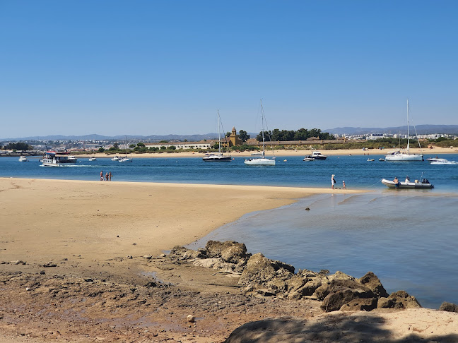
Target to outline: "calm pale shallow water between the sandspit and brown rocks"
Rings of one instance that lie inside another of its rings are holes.
[[[438,308],[458,303],[457,208],[457,195],[316,195],[245,215],[190,247],[233,240],[296,270],[354,277],[372,271],[389,293],[404,289],[422,306]]]

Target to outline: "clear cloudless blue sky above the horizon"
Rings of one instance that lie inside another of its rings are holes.
[[[458,1],[0,0],[0,138],[458,124]]]

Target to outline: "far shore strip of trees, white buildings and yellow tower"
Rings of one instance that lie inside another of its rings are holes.
[[[198,135],[189,136],[196,138]],[[262,146],[262,133],[247,133],[240,130],[237,133],[233,128],[223,138],[216,138],[218,135],[209,133],[208,138],[200,140],[181,139],[154,139],[134,138],[124,136],[124,139],[28,139],[8,140],[0,142],[0,156],[16,155],[42,155],[47,150],[57,152],[71,152],[75,154],[93,152],[174,152],[175,150],[192,150],[206,152],[217,150],[221,144],[222,148],[231,150],[258,150]],[[253,138],[253,136],[255,136]],[[342,148],[402,148],[406,143],[407,136],[400,133],[366,133],[357,135],[330,134],[322,132],[317,128],[307,130],[300,128],[298,131],[278,130],[264,132],[264,144],[274,149],[323,149],[335,150]],[[458,146],[458,135],[446,133],[430,133],[418,136],[410,136],[411,140],[420,141],[424,148],[428,145]]]

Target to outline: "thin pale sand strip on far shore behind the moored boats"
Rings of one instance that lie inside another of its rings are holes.
[[[342,150],[319,150],[322,152],[323,155],[327,156],[358,156],[358,155],[384,155],[389,151],[395,149],[342,149]],[[411,148],[411,152],[415,154],[423,153],[424,155],[439,155],[439,154],[458,154],[458,148],[438,148],[434,147],[432,149],[419,149],[419,148]],[[232,152],[233,157],[248,157],[252,155],[252,151],[244,151],[244,152]],[[310,155],[312,150],[274,150],[274,154],[277,156],[302,156]],[[271,155],[271,150],[266,150],[267,155]],[[124,155],[122,153],[107,153],[107,152],[96,152],[95,154],[91,154],[91,156],[95,156],[97,158],[111,158],[114,155]],[[89,155],[88,155],[89,156]],[[180,150],[175,150],[175,152],[163,152],[163,153],[142,153],[142,154],[132,154],[134,158],[146,158],[146,157],[203,157],[204,153],[201,152],[180,152]]]

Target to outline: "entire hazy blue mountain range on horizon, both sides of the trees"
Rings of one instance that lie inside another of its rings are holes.
[[[428,135],[435,133],[458,135],[458,125],[417,125],[415,128],[411,126],[411,133],[418,135]],[[365,135],[370,133],[406,133],[407,126],[396,126],[389,128],[359,128],[359,127],[344,127],[344,128],[327,128],[322,132],[328,132],[331,134],[338,135]],[[258,133],[248,133],[252,138],[256,137]],[[63,135],[51,135],[51,136],[29,136],[21,138],[2,138],[0,141],[17,141],[17,140],[145,140],[148,142],[155,142],[160,140],[189,140],[199,141],[204,139],[216,139],[218,133],[206,133],[196,135],[151,135],[151,136],[140,136],[140,135],[117,135],[117,136],[102,136],[98,134],[90,134],[83,136],[63,136]]]

